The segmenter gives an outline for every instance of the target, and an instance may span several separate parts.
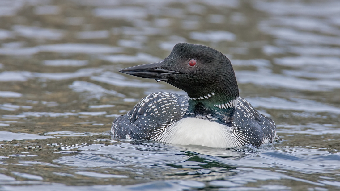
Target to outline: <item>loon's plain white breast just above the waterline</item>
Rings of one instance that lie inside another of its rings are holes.
[[[185,117],[159,132],[153,140],[166,144],[207,147],[241,147],[244,141],[231,127],[195,117]]]

